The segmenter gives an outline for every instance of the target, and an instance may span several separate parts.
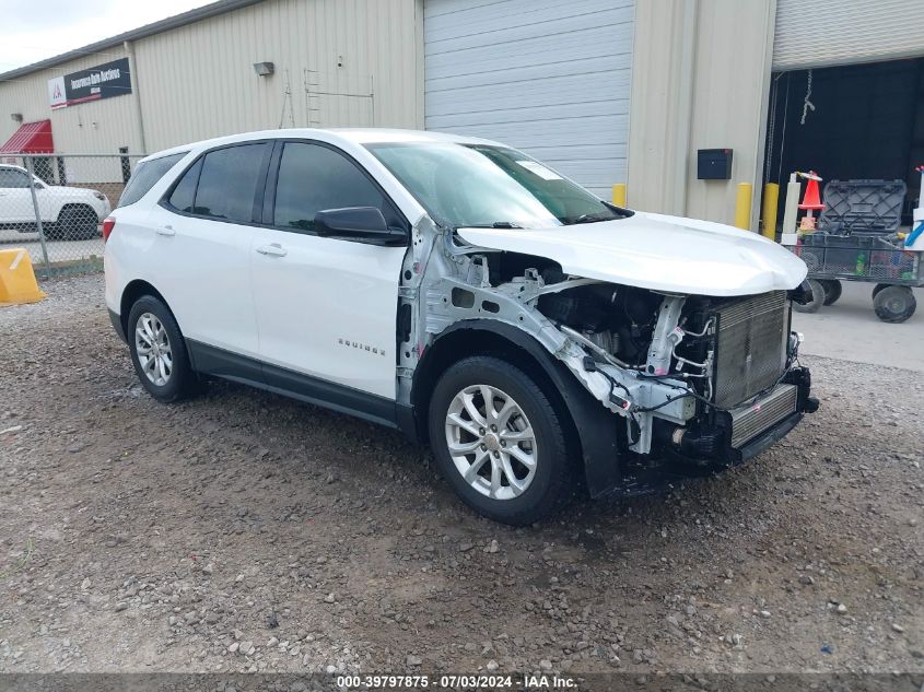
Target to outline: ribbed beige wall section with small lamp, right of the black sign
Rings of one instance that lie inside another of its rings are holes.
[[[280,125],[420,127],[414,23],[413,0],[267,0],[139,40],[149,149]],[[262,61],[272,77],[255,74]]]

